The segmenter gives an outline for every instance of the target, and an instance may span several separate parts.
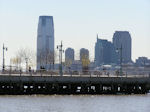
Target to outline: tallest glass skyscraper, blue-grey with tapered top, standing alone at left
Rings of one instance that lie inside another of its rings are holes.
[[[54,64],[53,16],[40,16],[37,31],[37,70],[52,69]]]

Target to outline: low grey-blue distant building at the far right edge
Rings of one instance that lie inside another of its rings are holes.
[[[139,57],[138,59],[136,59],[135,64],[137,66],[147,66],[150,65],[150,59],[148,59],[147,57]]]

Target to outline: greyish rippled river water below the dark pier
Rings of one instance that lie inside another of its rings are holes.
[[[150,94],[0,96],[0,112],[150,112]]]

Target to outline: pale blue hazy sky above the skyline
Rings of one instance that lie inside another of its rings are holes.
[[[6,64],[20,48],[36,52],[41,15],[54,18],[55,48],[63,41],[75,49],[87,48],[94,59],[96,35],[112,41],[115,31],[129,31],[132,59],[150,58],[150,0],[0,0],[0,65],[3,43]]]

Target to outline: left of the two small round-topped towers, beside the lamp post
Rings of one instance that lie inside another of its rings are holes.
[[[73,62],[74,61],[74,49],[67,48],[65,50],[65,62]]]

